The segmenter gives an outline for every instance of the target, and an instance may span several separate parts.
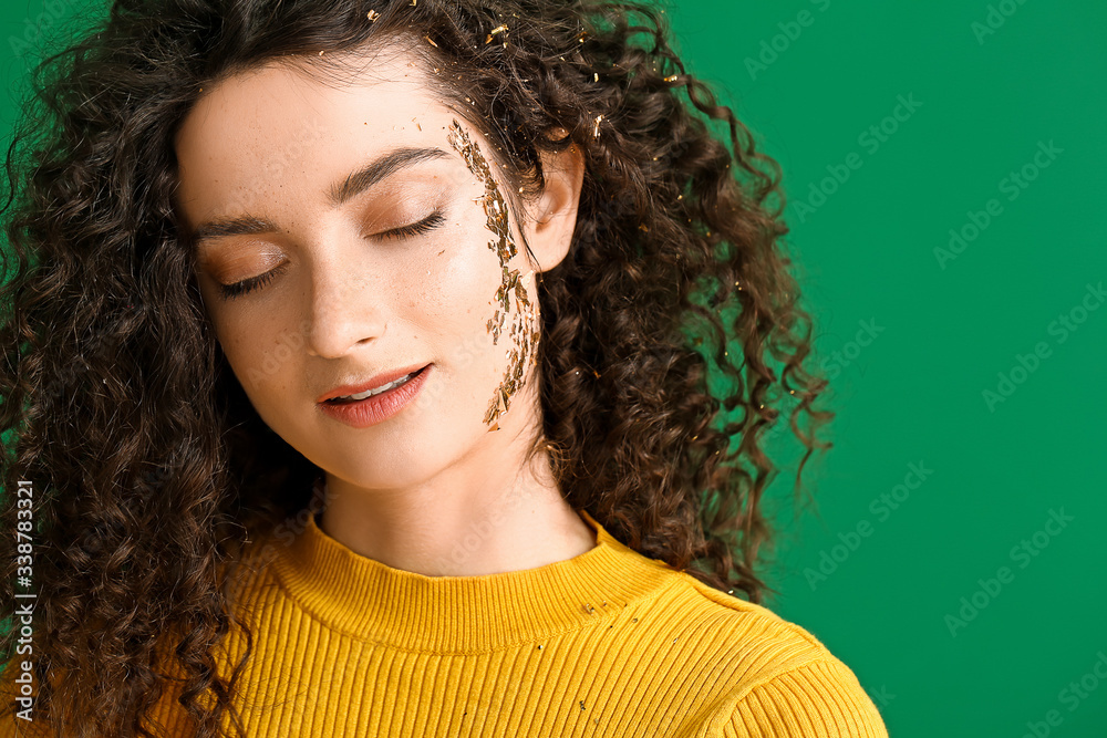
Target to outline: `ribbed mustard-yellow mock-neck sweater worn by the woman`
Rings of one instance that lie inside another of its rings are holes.
[[[887,738],[853,673],[810,633],[581,517],[591,550],[482,576],[393,569],[313,519],[275,539],[277,558],[242,590],[247,735]],[[156,717],[187,735],[170,699]]]

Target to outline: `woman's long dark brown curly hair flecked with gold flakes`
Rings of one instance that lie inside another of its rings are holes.
[[[542,152],[580,147],[570,252],[539,284],[530,450],[629,547],[753,602],[773,591],[756,573],[774,539],[766,432],[790,408],[798,500],[834,413],[816,409],[827,382],[804,367],[811,320],[782,245],[779,166],[685,71],[662,13],[617,0],[116,0],[38,65],[0,211],[0,481],[9,531],[28,517],[13,490],[34,485],[35,709],[56,735],[157,735],[147,713],[174,679],[196,735],[238,725],[249,651],[229,676],[215,656],[247,627],[236,555],[304,507],[320,469],[261,422],[206,320],[173,138],[205,87],[282,59],[334,71],[344,51],[404,42],[494,144],[516,207],[545,185]],[[9,624],[6,661],[17,637]]]

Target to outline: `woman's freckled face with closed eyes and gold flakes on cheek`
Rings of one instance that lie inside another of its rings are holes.
[[[408,59],[377,58],[356,85],[230,77],[176,139],[178,207],[235,375],[293,448],[368,488],[501,460],[540,427],[535,272],[565,257],[576,215],[576,194],[546,201],[570,217],[527,224],[531,263],[489,145]],[[332,397],[422,367],[379,397]]]

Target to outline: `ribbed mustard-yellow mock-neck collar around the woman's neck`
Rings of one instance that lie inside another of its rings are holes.
[[[312,617],[405,651],[474,653],[542,638],[614,615],[674,581],[673,569],[623,545],[587,511],[596,545],[536,569],[426,576],[354,553],[309,517],[279,547],[275,571]]]

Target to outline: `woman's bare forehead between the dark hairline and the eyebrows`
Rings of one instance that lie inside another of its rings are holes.
[[[397,146],[448,150],[458,117],[410,52],[358,58],[341,77],[270,63],[205,90],[177,132],[178,195],[193,218],[259,200],[311,197]],[[464,167],[461,157],[456,164]],[[189,218],[190,220],[193,218]]]

